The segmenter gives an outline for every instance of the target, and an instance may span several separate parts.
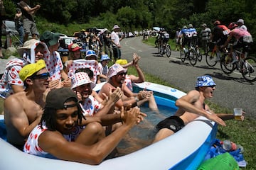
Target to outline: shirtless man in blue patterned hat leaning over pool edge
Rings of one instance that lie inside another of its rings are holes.
[[[175,115],[162,120],[156,125],[156,130],[159,130],[159,132],[156,133],[153,143],[173,135],[200,115],[223,126],[225,126],[223,120],[233,119],[233,114],[215,114],[210,110],[209,106],[204,103],[207,98],[213,97],[215,85],[213,79],[208,75],[198,77],[196,81],[196,90],[189,91],[188,94],[178,98],[176,101],[178,111],[176,111]],[[244,119],[243,115],[241,119]]]

